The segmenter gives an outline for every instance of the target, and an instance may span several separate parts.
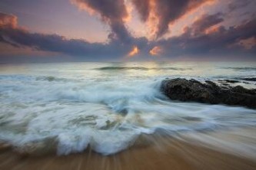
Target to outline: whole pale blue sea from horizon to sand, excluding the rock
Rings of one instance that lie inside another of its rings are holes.
[[[0,141],[25,152],[68,155],[89,145],[111,155],[143,134],[196,136],[256,126],[256,110],[169,100],[161,80],[177,77],[256,88],[246,80],[256,77],[256,63],[0,64]]]

